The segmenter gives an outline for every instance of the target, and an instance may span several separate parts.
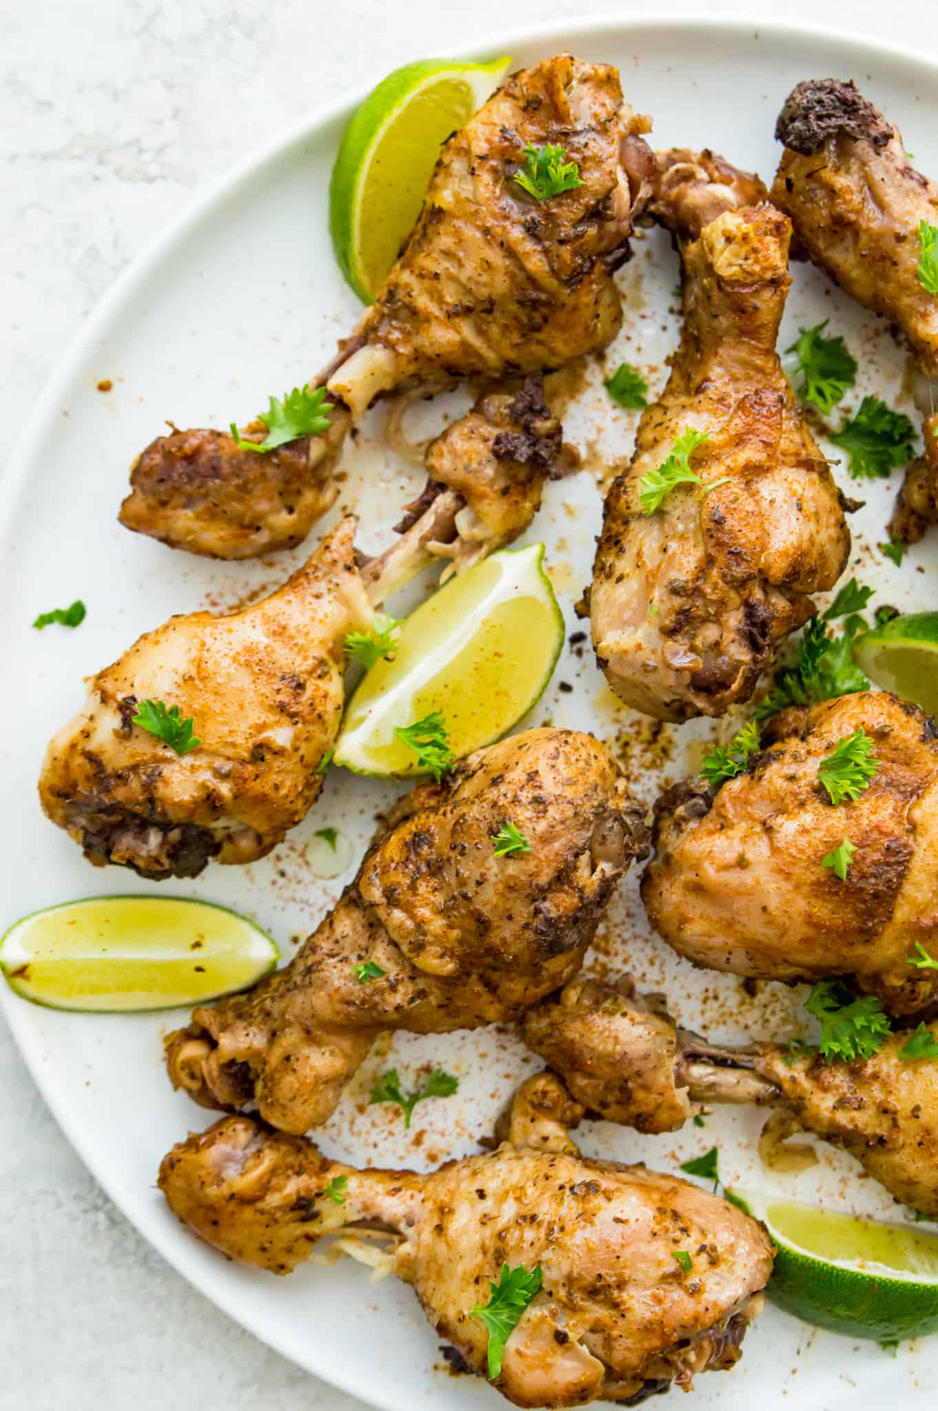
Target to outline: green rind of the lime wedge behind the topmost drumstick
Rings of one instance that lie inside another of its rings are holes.
[[[329,231],[339,268],[363,303],[371,303],[375,293],[367,286],[357,260],[360,203],[372,151],[413,96],[430,85],[433,79],[444,80],[447,75],[457,80],[463,79],[473,90],[475,106],[478,106],[501,80],[508,63],[506,58],[492,59],[488,63],[418,59],[388,73],[353,113],[341,135],[329,183]],[[465,117],[470,116],[470,111],[471,109],[467,110]],[[420,164],[420,176],[426,176],[419,183],[423,189],[430,179],[440,143],[447,135],[446,131],[427,134],[427,152]],[[399,237],[398,244],[403,244],[406,240],[418,210],[419,207],[412,212],[406,229],[395,231]],[[367,214],[368,219],[386,219],[386,213],[381,210]]]

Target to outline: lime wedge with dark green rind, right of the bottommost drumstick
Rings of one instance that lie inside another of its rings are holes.
[[[780,1308],[876,1342],[938,1331],[938,1236],[760,1192],[728,1195],[777,1246],[766,1292]]]

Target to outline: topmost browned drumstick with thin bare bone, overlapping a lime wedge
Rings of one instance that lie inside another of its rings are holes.
[[[647,127],[608,65],[557,55],[512,75],[444,144],[401,258],[317,378],[329,432],[258,454],[224,432],[173,430],[134,464],[121,522],[192,553],[289,547],[333,502],[343,437],[375,396],[539,374],[605,347],[621,322],[612,272],[654,168]],[[512,178],[525,145],[544,143],[566,145],[583,185],[537,202]]]

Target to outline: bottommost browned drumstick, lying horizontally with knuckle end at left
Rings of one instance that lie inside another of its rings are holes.
[[[502,1143],[426,1175],[357,1171],[303,1137],[224,1118],[173,1147],[159,1170],[172,1211],[231,1259],[286,1274],[317,1240],[388,1232],[388,1263],[437,1336],[487,1374],[488,1332],[471,1316],[502,1264],[542,1285],[505,1345],[497,1388],[520,1407],[640,1400],[731,1367],[772,1271],[765,1230],[700,1187],[642,1165],[592,1161],[567,1137],[559,1084],[537,1094],[553,1140]],[[519,1136],[523,1123],[512,1123]],[[344,1177],[344,1204],[326,1185]],[[519,1213],[520,1212],[520,1213]],[[360,1236],[361,1237],[361,1236]],[[693,1273],[674,1259],[686,1250]]]

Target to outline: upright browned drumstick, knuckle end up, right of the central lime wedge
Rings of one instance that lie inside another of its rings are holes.
[[[714,161],[701,159],[697,182],[690,162],[664,165],[653,203],[681,246],[684,326],[667,387],[607,497],[590,598],[609,686],[671,721],[748,700],[779,642],[811,615],[810,594],[839,577],[851,543],[776,353],[788,220],[769,206],[725,209],[697,236],[721,193],[732,207],[755,183],[714,181]],[[702,484],[678,484],[646,515],[640,480],[687,428],[708,436],[691,459]]]

